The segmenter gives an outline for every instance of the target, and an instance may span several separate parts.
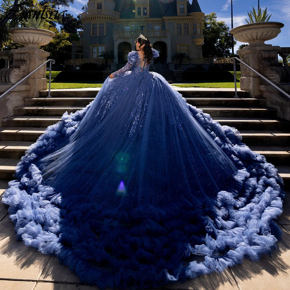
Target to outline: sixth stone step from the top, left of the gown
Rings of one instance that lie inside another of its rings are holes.
[[[21,158],[32,141],[0,141],[0,158]]]

